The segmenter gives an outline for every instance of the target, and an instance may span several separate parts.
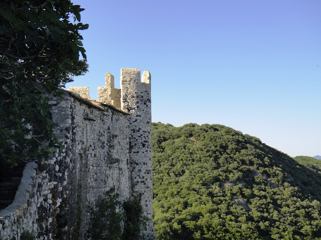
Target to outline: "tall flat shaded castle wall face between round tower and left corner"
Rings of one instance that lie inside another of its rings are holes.
[[[65,204],[69,221],[66,235],[70,237],[66,239],[72,239],[74,235],[84,239],[88,222],[85,209],[89,201],[94,201],[111,187],[122,201],[131,196],[128,119],[124,113],[88,107],[76,99],[71,109],[72,136],[68,154],[73,159],[73,166],[66,189],[70,193]],[[81,212],[77,212],[78,204]],[[81,215],[81,225],[77,228],[74,223],[78,214]]]

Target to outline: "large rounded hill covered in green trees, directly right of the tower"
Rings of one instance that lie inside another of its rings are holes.
[[[321,175],[219,124],[152,124],[162,239],[321,239]]]

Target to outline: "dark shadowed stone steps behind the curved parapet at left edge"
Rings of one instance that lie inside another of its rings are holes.
[[[4,176],[0,179],[0,210],[9,206],[16,195],[21,182],[22,173],[26,164],[6,169]]]

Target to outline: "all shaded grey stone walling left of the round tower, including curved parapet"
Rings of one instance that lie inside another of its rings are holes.
[[[49,101],[63,151],[27,164],[14,202],[0,212],[1,240],[24,230],[36,239],[85,239],[89,201],[111,187],[122,201],[131,196],[128,114],[70,94]]]

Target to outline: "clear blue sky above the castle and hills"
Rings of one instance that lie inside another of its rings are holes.
[[[152,121],[219,123],[290,156],[321,155],[320,0],[75,0],[90,65],[149,70]]]

